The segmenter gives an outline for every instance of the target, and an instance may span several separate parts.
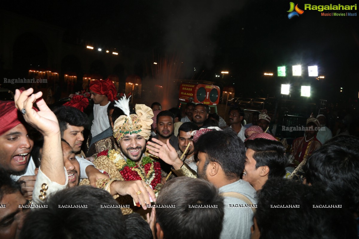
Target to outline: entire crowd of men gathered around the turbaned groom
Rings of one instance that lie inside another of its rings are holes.
[[[0,101],[0,238],[358,238],[359,139],[318,133],[323,115],[287,153],[266,111],[224,125],[204,104],[89,90],[88,150],[78,101]]]

